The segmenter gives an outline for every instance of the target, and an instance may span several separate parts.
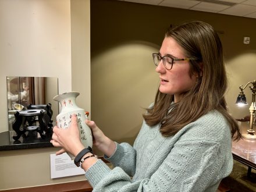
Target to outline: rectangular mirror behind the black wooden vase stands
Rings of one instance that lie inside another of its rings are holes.
[[[52,119],[58,114],[58,102],[53,97],[58,95],[58,78],[56,77],[6,77],[8,96],[8,125],[12,131],[15,112],[29,108],[31,105],[51,104]]]

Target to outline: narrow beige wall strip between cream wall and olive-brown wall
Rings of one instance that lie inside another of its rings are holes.
[[[71,0],[72,91],[77,105],[91,112],[90,0]]]

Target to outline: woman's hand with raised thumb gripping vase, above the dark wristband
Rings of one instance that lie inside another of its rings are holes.
[[[79,127],[77,126],[77,116],[72,115],[71,125],[67,129],[61,129],[55,126],[53,129],[51,143],[54,147],[62,147],[61,150],[56,152],[56,155],[62,154],[63,152],[69,152],[76,156],[84,146],[80,140]]]

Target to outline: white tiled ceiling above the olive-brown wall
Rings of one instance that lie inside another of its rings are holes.
[[[256,0],[119,0],[256,19]]]

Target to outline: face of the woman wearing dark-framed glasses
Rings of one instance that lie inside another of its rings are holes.
[[[172,37],[165,37],[159,55],[178,59],[186,58],[183,48]],[[161,60],[155,69],[160,78],[159,91],[174,95],[175,102],[180,101],[182,94],[189,91],[197,79],[195,75],[190,76],[189,69],[189,61],[174,61],[172,69],[167,70]]]

